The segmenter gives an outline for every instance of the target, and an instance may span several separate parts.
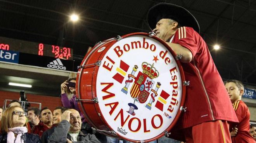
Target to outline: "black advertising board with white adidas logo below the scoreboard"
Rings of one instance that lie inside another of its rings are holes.
[[[74,61],[59,59],[48,56],[38,56],[34,54],[20,53],[19,64],[47,67],[50,69],[58,69],[63,71],[75,71]]]

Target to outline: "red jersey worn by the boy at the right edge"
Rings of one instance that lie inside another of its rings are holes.
[[[239,123],[236,127],[238,128],[237,135],[231,138],[232,143],[255,143],[254,138],[249,134],[250,112],[248,107],[242,100],[239,100],[233,104],[233,108],[235,110],[235,114],[237,115]]]

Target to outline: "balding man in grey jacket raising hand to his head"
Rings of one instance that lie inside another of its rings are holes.
[[[48,138],[48,143],[100,143],[95,135],[84,134],[81,130],[81,116],[75,109],[68,109],[62,116],[62,121]]]

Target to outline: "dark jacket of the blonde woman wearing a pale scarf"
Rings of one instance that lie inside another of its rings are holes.
[[[38,135],[25,133],[21,136],[21,138],[24,138],[24,143],[41,143],[40,138]],[[6,143],[7,142],[7,133],[0,135],[0,143]]]

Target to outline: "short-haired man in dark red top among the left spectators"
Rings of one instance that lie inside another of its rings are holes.
[[[39,135],[40,137],[43,135],[43,132],[50,129],[52,127],[52,111],[47,107],[41,109],[40,113],[41,122],[35,126],[32,133]]]

